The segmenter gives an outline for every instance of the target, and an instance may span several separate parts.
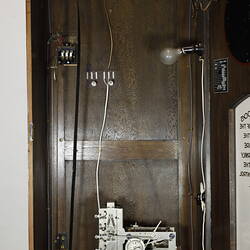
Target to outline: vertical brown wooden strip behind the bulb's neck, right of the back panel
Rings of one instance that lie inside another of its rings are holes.
[[[178,1],[179,10],[178,40],[181,43],[188,40],[188,8],[189,1]],[[177,66],[179,85],[179,241],[181,249],[191,249],[190,246],[190,199],[188,195],[189,134],[190,134],[190,83],[188,57],[182,57]]]

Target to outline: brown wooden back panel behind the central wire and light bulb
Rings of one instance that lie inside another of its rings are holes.
[[[188,19],[188,1],[178,1],[178,6],[176,3],[174,0],[107,1],[115,43],[112,69],[118,79],[110,93],[103,148],[103,158],[107,161],[101,161],[100,179],[102,203],[112,199],[123,206],[126,225],[138,221],[154,226],[163,219],[167,225],[177,227],[178,244],[183,249],[191,249],[187,164],[192,91],[188,85],[188,60],[183,59],[179,64],[178,79],[176,65],[166,67],[159,60],[160,49],[176,46],[177,36],[179,43],[188,39],[186,28],[181,30]],[[68,0],[53,0],[55,32],[74,35],[76,11],[73,6]],[[84,147],[83,158],[79,159],[93,160],[105,88],[87,86],[85,73],[86,70],[102,71],[107,65],[110,44],[103,1],[81,1],[81,24],[78,140],[86,141],[87,148]],[[54,91],[53,238],[68,228],[66,214],[72,169],[72,146],[68,143],[71,144],[73,138],[75,77],[75,68],[60,66],[57,80],[51,83]],[[80,145],[79,154],[81,148]],[[119,161],[135,158],[140,160]],[[146,160],[149,158],[153,160]],[[167,158],[172,160],[159,160]],[[76,248],[94,249],[96,243],[95,164],[95,161],[78,161]],[[196,231],[199,235],[199,228]]]

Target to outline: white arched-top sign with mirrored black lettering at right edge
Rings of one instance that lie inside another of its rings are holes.
[[[235,108],[236,249],[250,249],[250,97]]]

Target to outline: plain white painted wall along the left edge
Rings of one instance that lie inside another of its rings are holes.
[[[25,0],[0,6],[0,249],[28,250]]]

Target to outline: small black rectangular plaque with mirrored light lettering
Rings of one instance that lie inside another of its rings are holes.
[[[213,87],[215,93],[228,92],[228,59],[213,60]]]

